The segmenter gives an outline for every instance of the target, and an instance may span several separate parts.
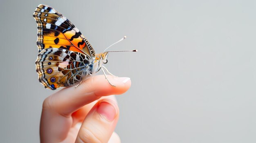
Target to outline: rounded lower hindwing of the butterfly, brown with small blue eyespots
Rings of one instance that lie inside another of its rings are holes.
[[[83,79],[86,72],[90,72],[89,59],[91,58],[87,55],[76,51],[45,48],[38,54],[36,60],[39,81],[45,88],[52,90],[61,86],[73,86]],[[83,62],[85,60],[86,62]]]

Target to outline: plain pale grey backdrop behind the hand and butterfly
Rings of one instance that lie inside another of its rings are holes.
[[[38,4],[65,15],[108,69],[131,77],[118,96],[123,143],[256,142],[254,0],[0,1],[0,142],[39,142]]]

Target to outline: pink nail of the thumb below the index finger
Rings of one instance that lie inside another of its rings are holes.
[[[109,121],[113,121],[117,114],[117,110],[116,110],[115,106],[111,105],[110,103],[108,103],[106,101],[102,101],[99,104],[97,112],[99,114],[101,114],[102,116],[106,117],[106,119]]]

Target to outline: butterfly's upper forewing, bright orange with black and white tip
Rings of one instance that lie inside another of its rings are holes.
[[[95,58],[95,52],[83,34],[61,13],[44,4],[33,14],[38,25],[38,51],[45,48],[63,48]]]

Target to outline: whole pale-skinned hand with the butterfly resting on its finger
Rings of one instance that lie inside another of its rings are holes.
[[[40,121],[41,143],[121,143],[114,132],[119,108],[113,95],[126,92],[128,77],[91,77],[47,97]],[[111,96],[109,96],[111,95]]]

